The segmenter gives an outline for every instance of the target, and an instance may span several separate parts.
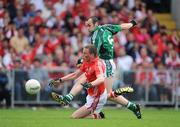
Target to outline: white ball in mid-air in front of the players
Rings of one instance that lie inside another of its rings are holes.
[[[36,79],[30,79],[26,82],[25,89],[29,94],[37,94],[41,89],[41,85]]]

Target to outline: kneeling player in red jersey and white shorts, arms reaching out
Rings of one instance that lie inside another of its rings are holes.
[[[59,79],[60,82],[64,82],[85,74],[86,82],[76,86],[76,89],[82,89],[82,87],[87,89],[86,104],[76,110],[72,118],[103,118],[101,110],[107,101],[107,91],[104,85],[105,65],[98,58],[97,50],[93,45],[88,45],[83,49],[83,60],[78,70]],[[69,98],[73,98],[73,95],[62,96],[52,92],[52,97],[55,101],[65,104]]]

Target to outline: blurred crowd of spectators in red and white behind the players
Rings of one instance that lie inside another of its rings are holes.
[[[85,27],[90,16],[97,16],[100,24],[138,22],[114,37],[114,88],[133,84],[134,99],[143,100],[148,84],[155,86],[152,100],[171,100],[171,71],[180,68],[180,37],[155,17],[157,12],[169,12],[169,4],[169,0],[0,0],[0,70],[21,70],[14,76],[15,100],[25,97],[27,79],[38,79],[46,91],[50,78],[76,68],[82,48],[90,44]],[[54,73],[57,70],[63,73]],[[3,72],[1,84],[7,84],[5,77]]]

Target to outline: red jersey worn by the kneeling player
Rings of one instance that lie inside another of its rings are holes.
[[[97,79],[99,74],[105,73],[105,65],[99,58],[95,58],[91,62],[84,61],[80,67],[80,70],[85,72],[87,82],[92,82]],[[104,92],[104,90],[105,84],[103,82],[95,87],[89,88],[87,92],[90,96],[99,96]]]

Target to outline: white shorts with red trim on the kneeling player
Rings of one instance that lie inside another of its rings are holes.
[[[91,113],[100,113],[102,108],[107,102],[107,91],[105,90],[103,94],[98,97],[87,96],[86,97],[86,108],[91,111]]]

